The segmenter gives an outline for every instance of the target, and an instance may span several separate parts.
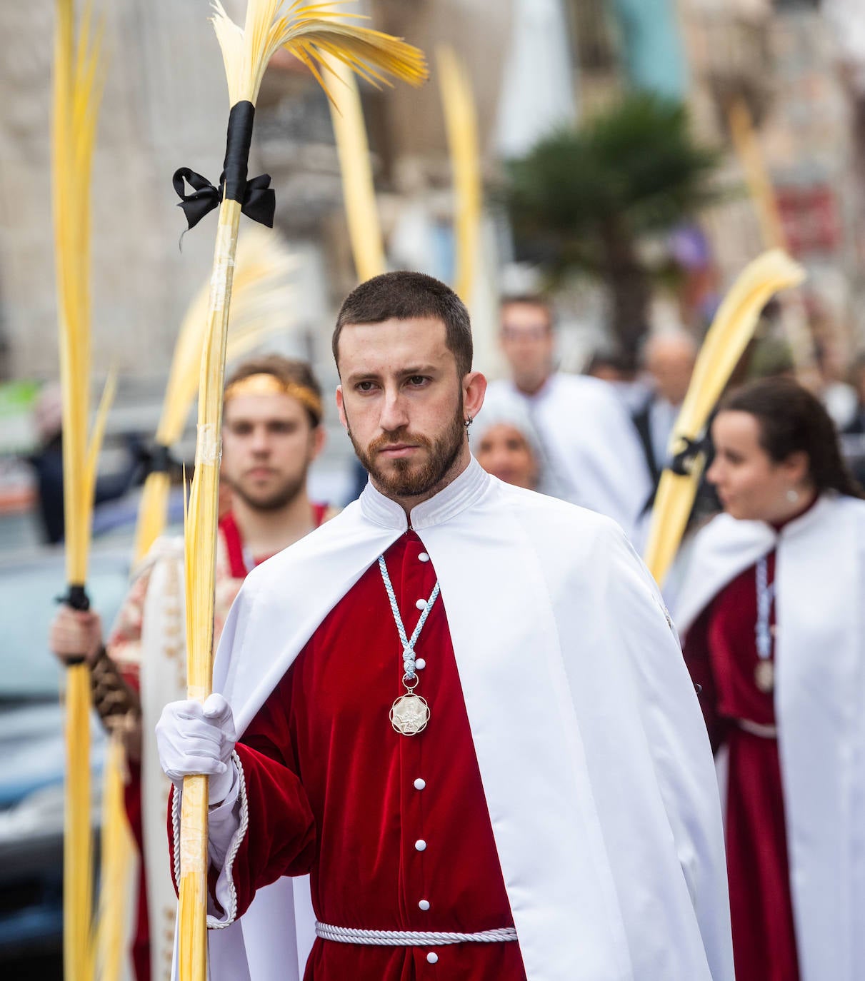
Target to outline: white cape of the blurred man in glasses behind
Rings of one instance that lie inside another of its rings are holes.
[[[538,490],[613,518],[636,541],[652,483],[636,430],[614,389],[562,373],[532,396],[513,382],[493,382],[479,418],[514,402],[528,412],[543,443],[545,484]]]

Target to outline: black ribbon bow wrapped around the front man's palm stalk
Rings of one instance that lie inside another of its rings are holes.
[[[249,163],[249,147],[252,143],[252,122],[255,107],[251,102],[238,102],[232,106],[228,119],[226,135],[225,163],[219,186],[196,174],[189,167],[181,167],[174,172],[172,183],[180,197],[178,207],[184,209],[187,225],[193,229],[201,219],[218,208],[223,196],[241,202],[241,211],[254,222],[273,228],[276,212],[276,195],[270,186],[270,175],[261,174],[251,181],[246,180],[246,167]],[[186,184],[192,193],[186,193]]]

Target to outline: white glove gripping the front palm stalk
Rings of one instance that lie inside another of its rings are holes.
[[[169,702],[156,723],[165,775],[178,790],[184,777],[209,777],[210,804],[225,800],[234,786],[237,738],[232,707],[221,695],[211,695],[203,705],[192,698]]]

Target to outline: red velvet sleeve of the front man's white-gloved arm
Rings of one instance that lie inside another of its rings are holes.
[[[248,827],[232,865],[237,916],[243,915],[258,889],[284,875],[305,875],[315,857],[315,819],[297,776],[285,700],[290,694],[287,678],[288,675],[268,698],[237,745],[248,810]],[[173,795],[172,790],[172,798]],[[171,806],[169,801],[169,822]],[[169,831],[172,870],[173,839]],[[214,878],[211,876],[211,880]]]

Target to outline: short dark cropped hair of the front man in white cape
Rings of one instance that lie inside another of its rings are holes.
[[[445,343],[462,378],[471,371],[471,322],[460,297],[439,280],[399,270],[355,286],[346,297],[334,329],[332,347],[339,370],[340,335],[347,324],[383,324],[386,320],[429,317],[445,325]]]

